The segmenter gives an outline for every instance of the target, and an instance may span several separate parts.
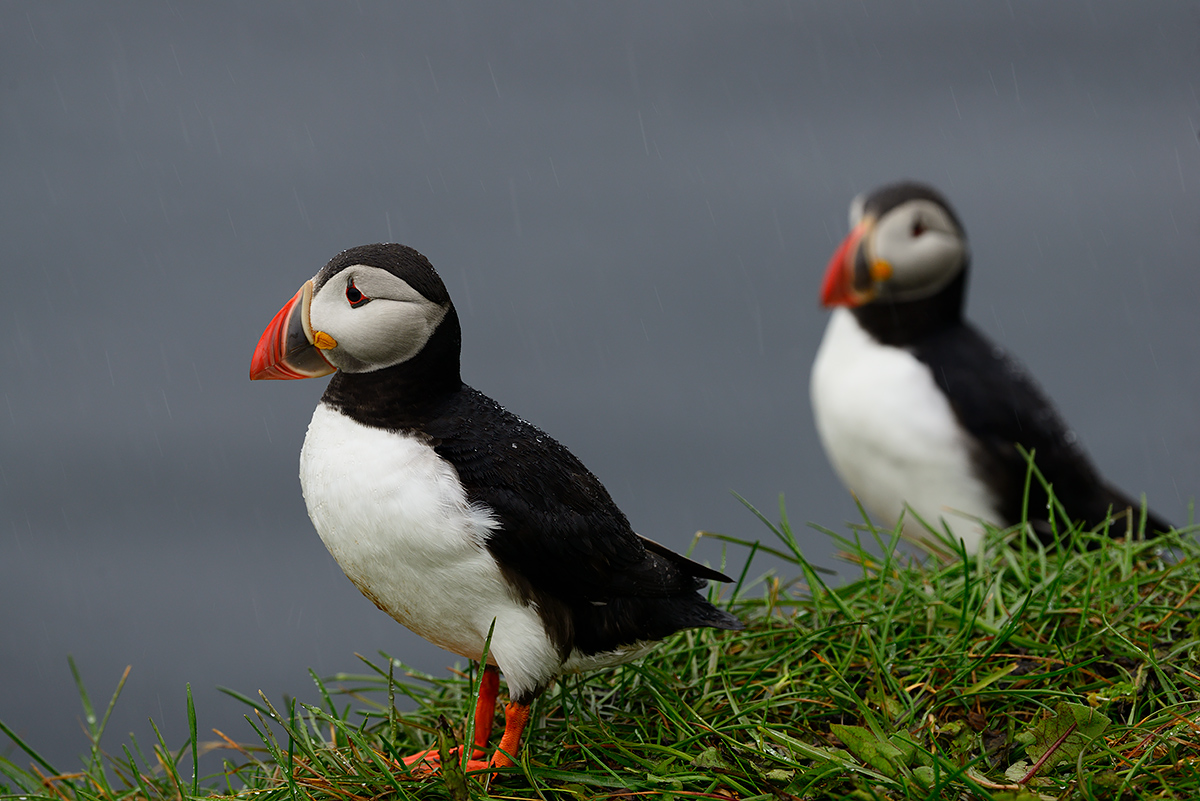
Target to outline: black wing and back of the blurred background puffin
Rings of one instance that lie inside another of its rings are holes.
[[[1100,477],[1050,399],[1002,348],[962,324],[923,338],[912,351],[929,366],[959,422],[978,441],[973,462],[980,477],[996,488],[1003,523],[1021,519],[1027,464],[1020,448],[1036,452],[1034,464],[1073,519],[1094,526],[1110,513],[1132,508],[1136,523],[1141,505]],[[1034,478],[1028,517],[1044,541],[1054,536],[1048,502]],[[1162,518],[1148,516],[1147,531],[1169,528]],[[1114,535],[1123,532],[1123,525],[1114,525]]]

